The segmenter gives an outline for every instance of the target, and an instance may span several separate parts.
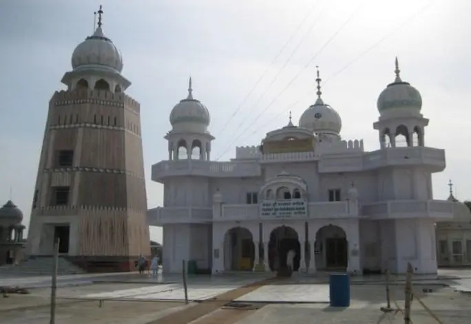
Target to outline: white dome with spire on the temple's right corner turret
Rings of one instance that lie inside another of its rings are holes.
[[[401,70],[399,69],[399,63],[396,58],[396,78],[393,83],[390,83],[386,89],[384,89],[377,101],[377,108],[381,115],[383,114],[401,114],[410,112],[419,114],[422,108],[422,97],[420,92],[412,87],[410,83],[401,80],[399,75]]]

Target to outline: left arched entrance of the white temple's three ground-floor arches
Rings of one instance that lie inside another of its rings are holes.
[[[255,259],[255,246],[250,230],[234,227],[224,235],[224,269],[251,271]]]

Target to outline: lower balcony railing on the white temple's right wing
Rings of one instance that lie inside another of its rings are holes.
[[[390,200],[365,204],[362,210],[364,215],[376,219],[453,217],[453,203],[446,200]]]

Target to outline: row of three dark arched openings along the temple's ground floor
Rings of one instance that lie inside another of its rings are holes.
[[[298,233],[290,226],[283,225],[273,229],[269,237],[268,244],[258,245],[249,229],[229,229],[224,235],[224,270],[251,271],[256,264],[265,263],[269,270],[277,271],[286,267],[289,250],[294,250],[296,254],[293,260],[294,271],[309,268],[311,255],[315,258],[315,270],[347,270],[348,241],[345,231],[339,226],[324,226],[315,233],[313,253],[308,240],[302,244]]]

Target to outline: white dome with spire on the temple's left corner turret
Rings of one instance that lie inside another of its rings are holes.
[[[191,88],[191,78],[189,80],[188,97],[180,100],[178,104],[171,109],[170,124],[198,124],[204,127],[209,126],[211,121],[209,110],[200,100],[193,99],[193,89]]]

